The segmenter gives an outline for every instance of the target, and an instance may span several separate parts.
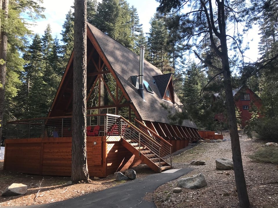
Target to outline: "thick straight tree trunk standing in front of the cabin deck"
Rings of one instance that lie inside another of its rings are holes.
[[[87,23],[86,0],[74,1],[72,107],[72,181],[89,181],[86,147]]]

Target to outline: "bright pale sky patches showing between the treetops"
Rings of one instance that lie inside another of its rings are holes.
[[[100,2],[101,0],[98,1]],[[72,9],[71,6],[73,2],[74,0],[44,0],[43,7],[45,7],[45,12],[43,12],[43,14],[46,18],[38,20],[36,25],[31,29],[34,33],[38,33],[42,36],[47,24],[50,24],[52,36],[58,36],[58,39],[61,39],[60,33],[63,29],[62,26],[65,21],[65,16],[67,12]],[[140,23],[143,24],[143,31],[145,33],[149,32],[149,21],[155,14],[159,3],[155,0],[127,0],[127,2],[130,7],[134,5],[134,7],[137,8]],[[250,47],[250,49],[244,53],[245,62],[257,60],[259,42],[258,31],[258,28],[255,27],[255,29],[249,31],[249,33],[245,35],[244,43],[247,44],[247,42],[249,42]]]

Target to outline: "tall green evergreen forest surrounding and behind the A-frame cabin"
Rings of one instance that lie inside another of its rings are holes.
[[[178,5],[180,1],[171,2],[171,8],[182,6]],[[278,2],[252,0],[248,7],[244,2],[231,1],[231,6],[232,3],[240,6],[231,9],[227,21],[231,20],[230,16],[241,14],[237,21],[246,25],[242,32],[254,24],[259,26],[259,58],[255,62],[245,62],[243,58],[238,61],[246,49],[242,47],[243,36],[237,34],[238,39],[231,36],[234,43],[228,49],[231,53],[232,86],[236,89],[246,85],[261,98],[262,107],[252,108],[253,117],[246,131],[256,131],[261,138],[267,138],[270,134],[266,132],[278,134]],[[8,40],[6,76],[0,79],[0,94],[4,95],[4,101],[0,103],[3,109],[0,128],[3,129],[9,120],[47,116],[73,50],[73,9],[65,16],[61,39],[52,36],[51,24],[47,25],[42,36],[32,34],[28,29],[26,16],[33,21],[43,18],[41,3],[34,0],[10,1],[8,15],[1,5],[0,32],[1,37],[6,35]],[[166,14],[161,8],[157,11],[150,20],[149,31],[143,31],[136,8],[127,1],[102,0],[98,3],[97,0],[87,0],[89,23],[138,55],[140,45],[145,45],[145,59],[162,73],[173,73],[175,92],[183,103],[182,115],[179,116],[193,120],[199,129],[228,129],[225,122],[214,119],[216,114],[226,114],[226,105],[224,75],[212,67],[221,68],[222,63],[206,40],[207,36],[202,36],[209,31],[202,30],[201,23],[194,26],[193,20],[186,15]],[[196,18],[201,19],[197,15]],[[202,44],[193,41],[201,39]],[[221,45],[220,42],[217,44]],[[194,53],[198,57],[192,58]],[[0,59],[0,65],[3,63],[4,60]],[[258,118],[258,113],[263,116]],[[5,136],[4,130],[2,136]]]

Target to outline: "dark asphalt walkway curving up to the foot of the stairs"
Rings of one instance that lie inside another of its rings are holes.
[[[25,208],[155,208],[153,202],[143,199],[146,193],[151,193],[160,185],[172,181],[189,173],[191,169],[167,170],[162,173],[150,174],[144,179],[135,179],[127,183],[114,186],[91,194],[85,194],[65,201],[32,205],[19,206]],[[10,207],[9,207],[10,208]]]

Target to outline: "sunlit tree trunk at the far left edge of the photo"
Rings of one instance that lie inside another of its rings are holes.
[[[5,12],[5,19],[8,18],[8,6],[9,0],[0,0],[0,9],[4,10]],[[7,46],[8,46],[8,37],[3,28],[3,21],[2,25],[0,24],[0,142],[2,138],[2,129],[3,129],[3,115],[5,110],[5,85],[6,85],[6,60],[7,60]]]

